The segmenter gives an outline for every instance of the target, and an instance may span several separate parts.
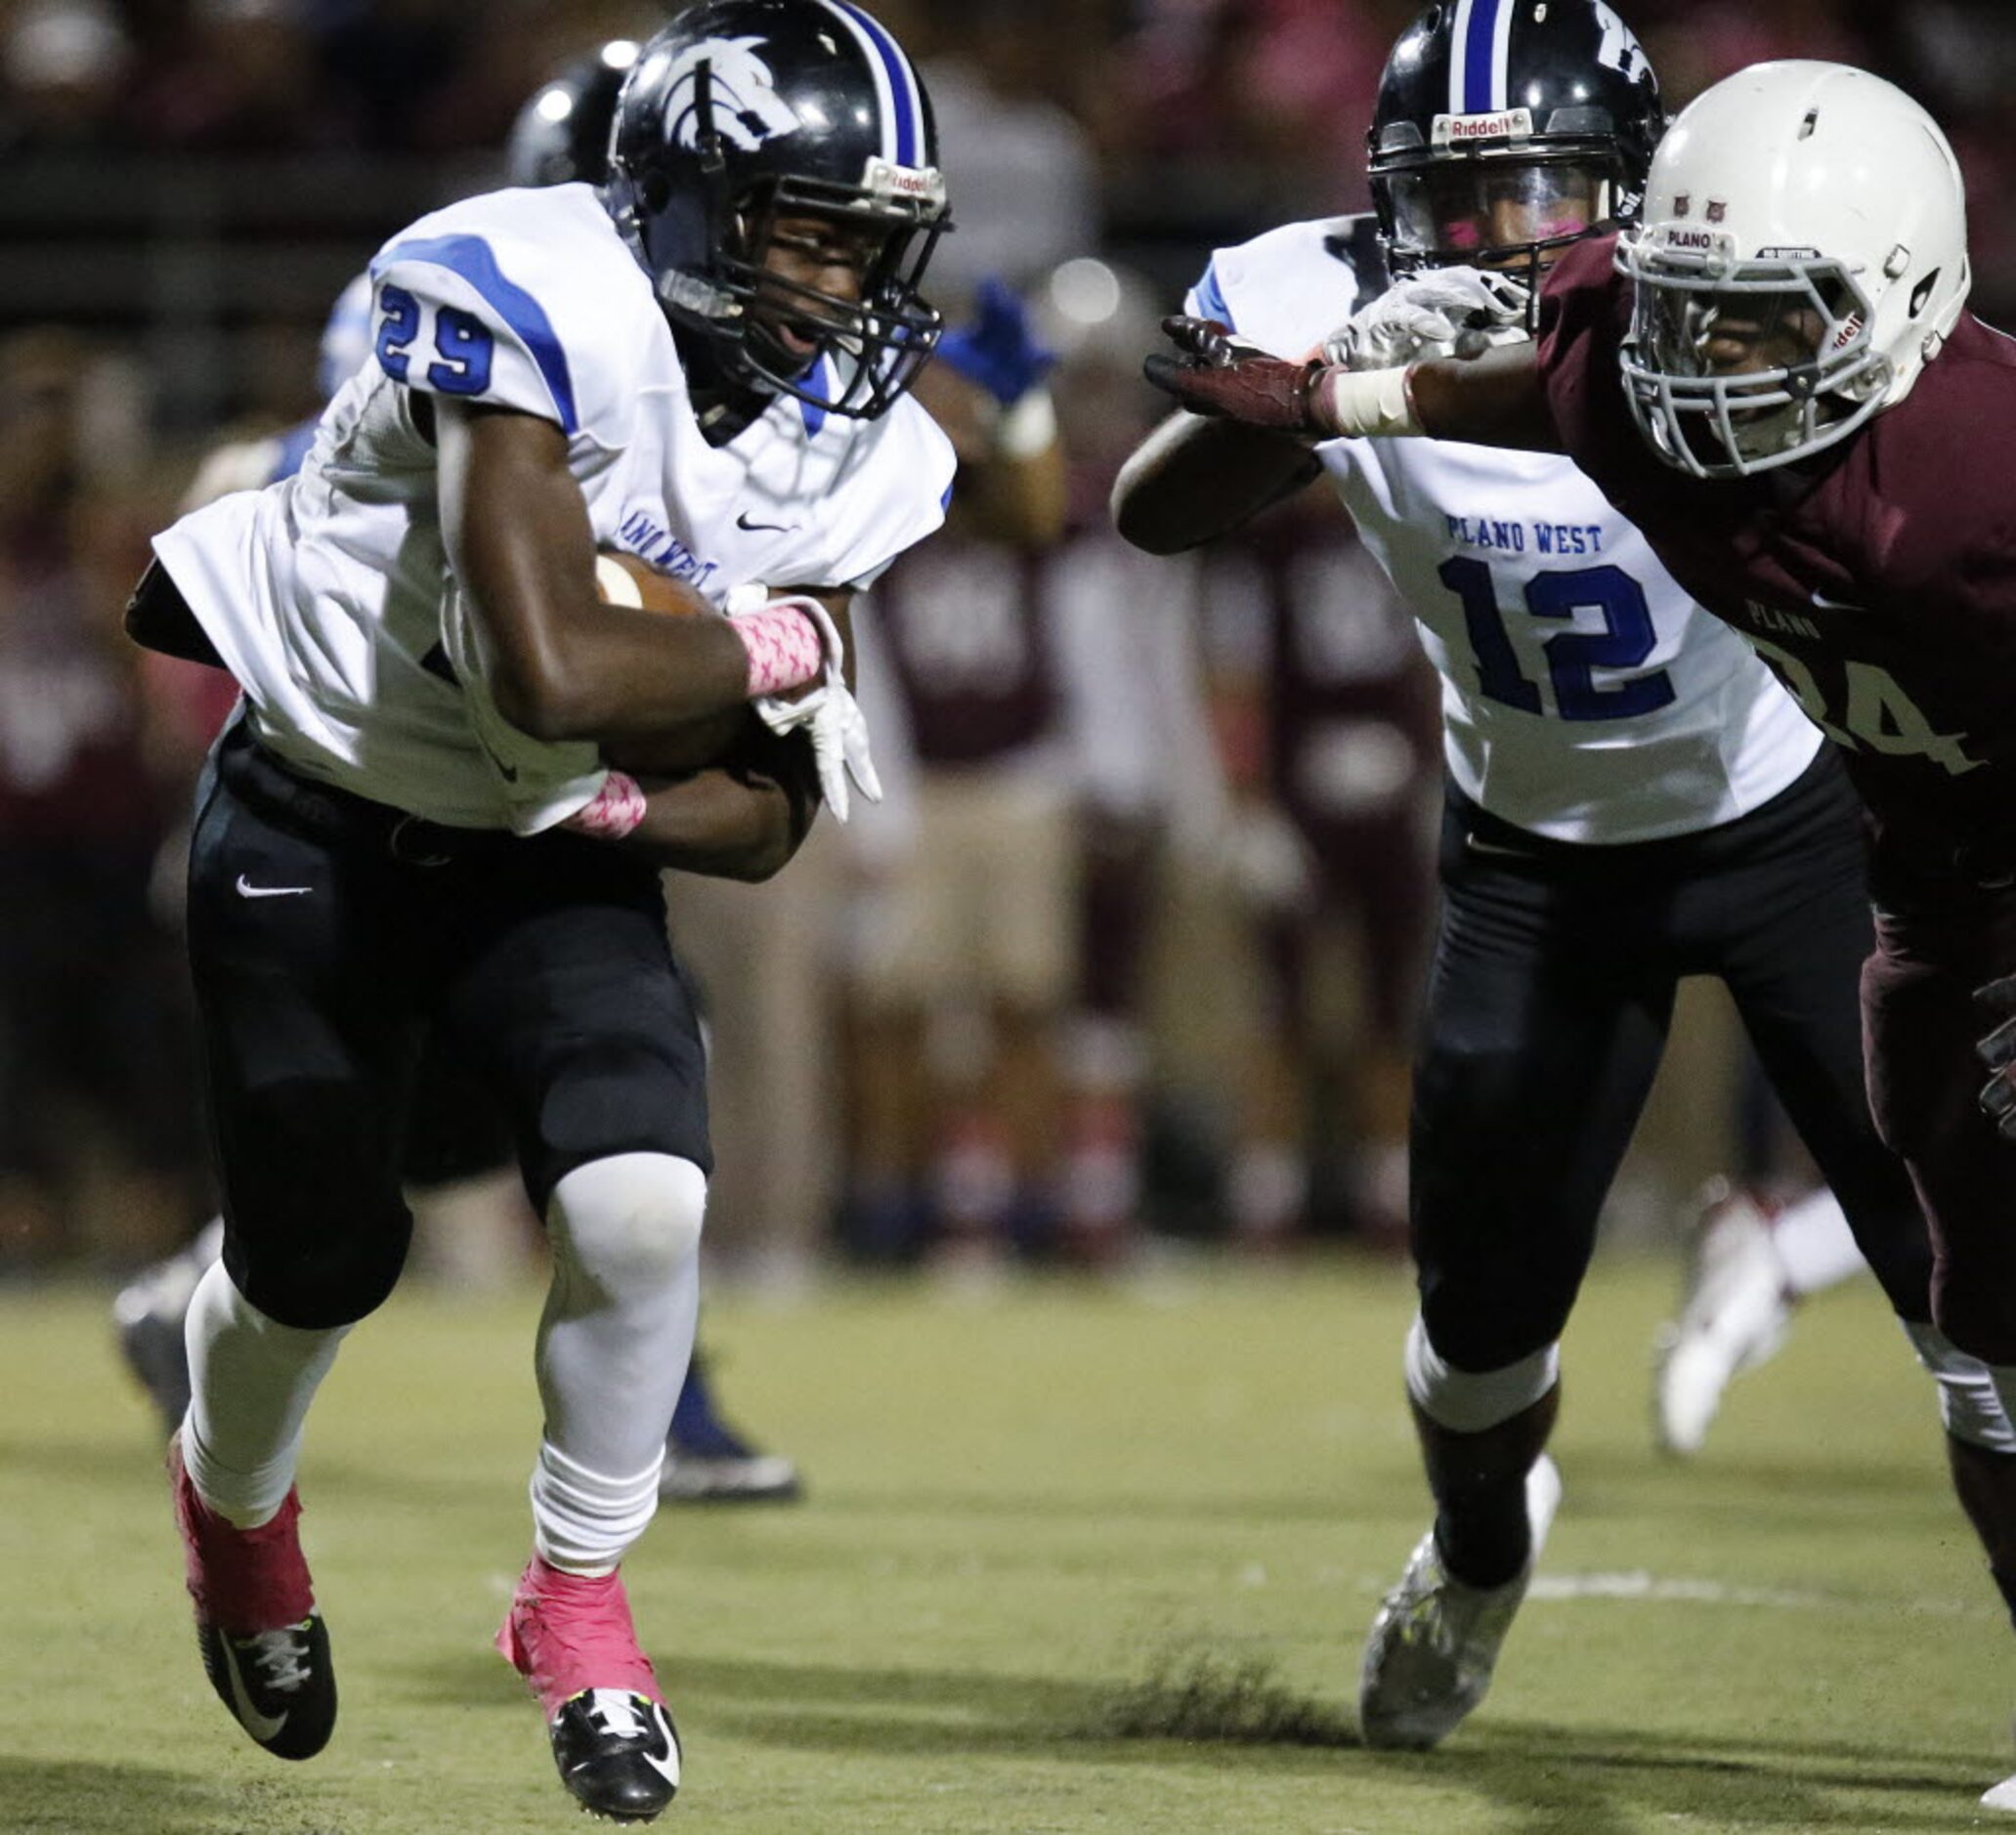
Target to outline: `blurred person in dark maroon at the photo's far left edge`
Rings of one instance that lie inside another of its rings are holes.
[[[163,792],[107,593],[149,518],[87,470],[91,369],[62,333],[0,343],[0,1266],[135,1260],[200,1202],[183,978],[149,895]]]

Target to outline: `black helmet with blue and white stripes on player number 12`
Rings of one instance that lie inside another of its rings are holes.
[[[1387,266],[1510,268],[1637,218],[1659,79],[1607,0],[1437,0],[1393,46],[1369,135]]]

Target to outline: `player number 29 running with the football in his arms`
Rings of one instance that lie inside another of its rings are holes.
[[[302,1422],[397,1278],[442,1030],[504,1097],[554,1248],[534,1557],[498,1645],[587,1809],[649,1821],[677,1789],[617,1573],[657,1502],[708,1174],[657,873],[764,877],[821,797],[875,794],[847,607],[950,494],[905,399],[943,228],[929,103],[869,14],[710,0],[643,48],[601,194],[395,236],[371,361],[300,472],[155,540],[129,629],[246,700],[190,871],[228,1230],[175,1516],[212,1684],[278,1756],[321,1750],[337,1704]],[[599,603],[597,548],[698,615]]]

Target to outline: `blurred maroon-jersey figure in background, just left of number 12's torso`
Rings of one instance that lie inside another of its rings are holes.
[[[1431,930],[1433,676],[1413,619],[1316,486],[1212,550],[1218,726],[1244,811],[1236,871],[1266,962],[1244,1069],[1234,1234],[1272,1248],[1310,1216],[1397,1246],[1407,1222],[1413,1010]],[[1347,944],[1343,974],[1322,974]]]

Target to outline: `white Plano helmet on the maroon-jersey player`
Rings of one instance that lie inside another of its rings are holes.
[[[1744,478],[1911,393],[1968,300],[1968,206],[1937,123],[1847,65],[1724,79],[1653,155],[1625,393],[1667,464]]]

